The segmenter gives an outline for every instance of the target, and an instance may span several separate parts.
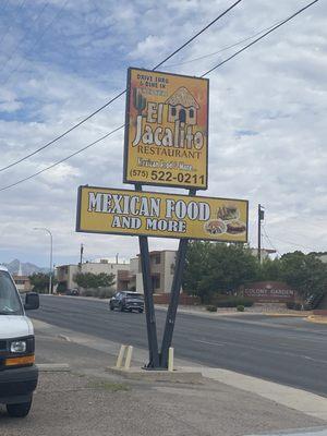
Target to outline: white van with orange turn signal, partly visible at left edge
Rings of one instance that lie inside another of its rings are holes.
[[[37,385],[34,330],[25,310],[38,306],[34,292],[22,303],[8,269],[0,265],[0,403],[11,416],[28,414]]]

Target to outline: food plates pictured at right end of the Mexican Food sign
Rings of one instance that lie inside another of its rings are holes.
[[[235,205],[226,204],[217,209],[217,218],[205,223],[204,229],[209,234],[242,234],[246,225],[240,220],[240,210]]]

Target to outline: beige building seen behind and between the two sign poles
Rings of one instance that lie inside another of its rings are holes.
[[[173,250],[150,252],[150,274],[155,293],[169,293],[171,290],[175,255]],[[135,287],[137,292],[143,290],[143,277],[140,254],[131,259],[130,287]]]

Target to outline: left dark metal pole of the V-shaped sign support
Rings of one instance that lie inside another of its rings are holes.
[[[142,191],[142,185],[136,184],[135,191]],[[147,237],[138,237],[138,242],[140,242],[141,266],[143,276],[147,341],[148,341],[148,352],[149,352],[149,362],[146,365],[146,367],[158,368],[160,366],[160,363],[159,363],[157,326],[156,326],[155,305],[153,298],[153,282],[150,275],[150,261],[149,261]]]

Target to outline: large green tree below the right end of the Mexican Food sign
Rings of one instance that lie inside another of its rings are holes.
[[[256,280],[258,264],[240,244],[192,242],[186,255],[183,287],[209,302],[219,293],[231,293],[240,284]]]

